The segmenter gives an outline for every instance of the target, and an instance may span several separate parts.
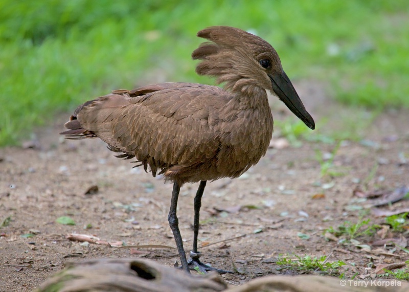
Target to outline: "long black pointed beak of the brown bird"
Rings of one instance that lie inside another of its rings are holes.
[[[290,79],[288,79],[287,74],[283,71],[282,73],[275,73],[274,75],[269,74],[268,77],[270,77],[272,89],[278,97],[294,115],[303,121],[307,127],[313,130],[315,128],[315,122],[305,109],[304,104],[298,96],[296,89],[292,86]]]

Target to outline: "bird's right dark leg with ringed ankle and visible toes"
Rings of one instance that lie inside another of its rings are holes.
[[[195,216],[193,219],[193,250],[190,251],[191,260],[189,261],[189,267],[191,269],[196,270],[198,268],[198,271],[202,273],[206,273],[207,271],[216,271],[219,274],[232,273],[230,271],[224,271],[223,269],[211,267],[207,264],[202,263],[199,260],[201,253],[197,250],[197,235],[199,234],[199,215],[201,207],[201,197],[203,196],[203,191],[205,191],[205,187],[206,181],[201,181],[194,200]]]

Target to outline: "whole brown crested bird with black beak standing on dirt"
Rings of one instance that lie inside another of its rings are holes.
[[[210,42],[192,53],[196,72],[216,77],[223,88],[194,83],[161,83],[119,90],[80,105],[61,134],[98,137],[119,158],[136,158],[152,175],[173,182],[168,215],[182,267],[215,269],[197,250],[201,197],[207,181],[235,178],[266,153],[272,115],[266,90],[275,93],[309,128],[314,120],[283,71],[274,48],[251,33],[210,27],[197,33]],[[194,238],[188,263],[176,216],[180,187],[200,182],[194,199]],[[219,273],[226,271],[216,269]]]

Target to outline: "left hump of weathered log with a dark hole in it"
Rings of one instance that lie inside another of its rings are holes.
[[[68,263],[36,292],[214,292],[226,287],[216,273],[191,276],[143,259],[92,259]]]

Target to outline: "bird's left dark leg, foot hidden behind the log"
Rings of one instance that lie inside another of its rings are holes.
[[[172,199],[170,201],[170,210],[168,215],[169,226],[172,229],[173,237],[176,241],[177,251],[179,253],[180,261],[182,268],[187,272],[189,271],[188,261],[186,260],[185,250],[183,249],[182,236],[179,231],[179,220],[176,217],[176,207],[177,207],[177,198],[179,197],[180,186],[177,182],[173,183]]]

